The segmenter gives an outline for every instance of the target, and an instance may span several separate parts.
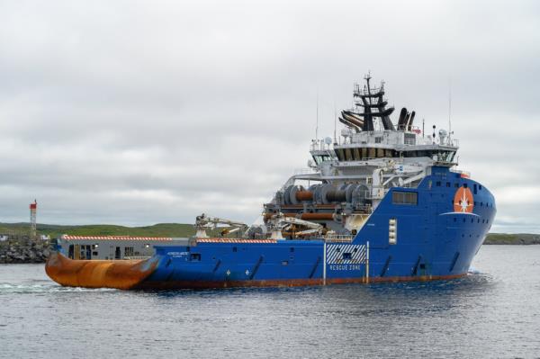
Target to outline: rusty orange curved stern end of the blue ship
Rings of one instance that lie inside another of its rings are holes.
[[[47,259],[50,279],[67,287],[131,289],[152,274],[157,261],[73,260],[58,252]]]

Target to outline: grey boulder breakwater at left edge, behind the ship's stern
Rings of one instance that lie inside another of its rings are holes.
[[[50,254],[49,242],[0,242],[0,264],[45,263]]]

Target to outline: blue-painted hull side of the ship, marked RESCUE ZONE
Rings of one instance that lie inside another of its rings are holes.
[[[455,211],[468,188],[473,211]],[[418,193],[417,204],[394,204],[392,193]],[[418,188],[392,188],[356,238],[197,243],[156,247],[156,270],[139,288],[221,288],[367,283],[453,278],[467,274],[491,228],[496,206],[481,184],[433,167]],[[389,220],[398,223],[389,244]]]

